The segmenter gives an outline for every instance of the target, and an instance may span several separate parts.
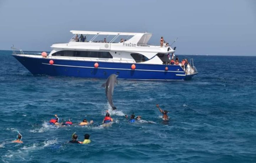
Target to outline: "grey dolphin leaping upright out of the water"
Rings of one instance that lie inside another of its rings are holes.
[[[108,79],[107,82],[104,83],[102,86],[106,88],[106,96],[107,96],[107,100],[110,104],[110,106],[112,107],[113,110],[117,109],[114,104],[113,104],[113,92],[114,92],[114,88],[115,88],[115,83],[117,82],[117,75],[116,74],[111,74]]]

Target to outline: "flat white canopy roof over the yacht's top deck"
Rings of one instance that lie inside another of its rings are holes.
[[[102,32],[102,31],[70,31],[73,34],[84,34],[84,35],[127,35],[135,36],[137,34],[145,33],[132,33],[132,32]],[[150,33],[151,34],[151,33]]]

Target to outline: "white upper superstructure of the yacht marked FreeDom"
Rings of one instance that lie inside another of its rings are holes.
[[[52,54],[63,51],[63,50],[73,50],[73,51],[104,51],[109,52],[113,58],[81,58],[72,56],[58,56],[59,59],[74,59],[74,60],[90,60],[90,61],[111,61],[111,62],[125,62],[125,63],[147,63],[147,64],[163,64],[167,62],[167,56],[162,58],[158,57],[157,54],[167,54],[174,53],[175,51],[170,47],[160,47],[160,46],[151,46],[148,45],[148,41],[152,36],[152,33],[128,33],[128,32],[102,32],[102,31],[70,31],[75,36],[70,39],[68,43],[54,43],[51,48],[52,51],[49,54],[49,57]],[[93,35],[92,38],[86,40],[85,42],[76,42],[76,36],[86,36]],[[97,40],[98,36],[112,36],[111,40],[107,40],[104,43],[103,39]],[[130,36],[124,42],[120,42],[120,39],[126,36]],[[164,44],[165,45],[165,44]],[[145,61],[136,61],[134,57],[131,56],[131,53],[138,53],[143,55],[146,59]],[[54,56],[52,56],[54,57]]]

